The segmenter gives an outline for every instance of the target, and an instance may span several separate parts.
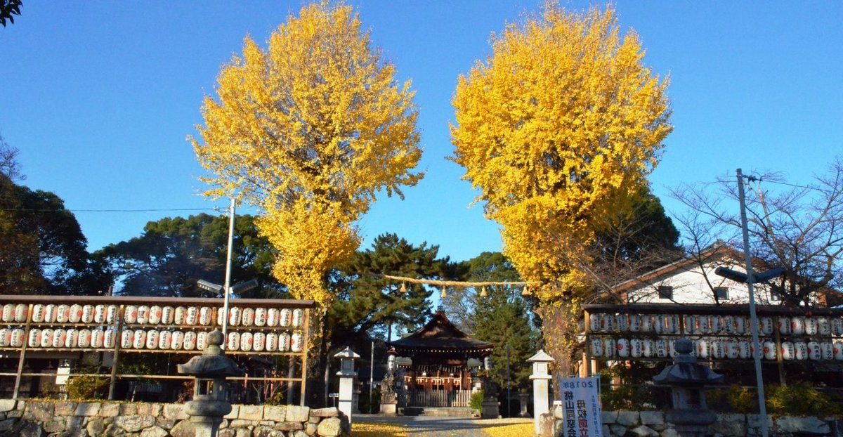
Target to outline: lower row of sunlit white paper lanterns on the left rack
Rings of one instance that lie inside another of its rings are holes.
[[[0,348],[23,346],[22,328],[0,329]],[[30,348],[114,348],[117,332],[114,329],[30,329],[27,346]],[[159,350],[203,350],[207,332],[156,330],[127,330],[121,333],[121,348]],[[304,337],[301,332],[228,332],[226,347],[243,352],[301,352]]]

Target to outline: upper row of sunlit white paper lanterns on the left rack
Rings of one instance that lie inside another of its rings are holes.
[[[26,321],[29,305],[2,305],[0,318],[3,322],[22,323]],[[217,310],[217,325],[223,324],[225,310]],[[210,326],[212,308],[208,306],[159,306],[159,305],[126,305],[124,321],[138,325],[187,325]],[[32,307],[32,322],[34,323],[110,323],[117,319],[117,305],[42,305]],[[289,310],[287,308],[239,308],[229,311],[229,326],[301,326],[304,311]]]

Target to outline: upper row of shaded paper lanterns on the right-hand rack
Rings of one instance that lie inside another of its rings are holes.
[[[681,316],[685,334],[749,334],[751,325],[746,316]],[[679,315],[647,314],[589,314],[591,332],[655,332],[678,334]],[[759,332],[771,335],[772,317],[759,317]],[[843,318],[840,317],[778,317],[778,330],[784,335],[843,336]]]

